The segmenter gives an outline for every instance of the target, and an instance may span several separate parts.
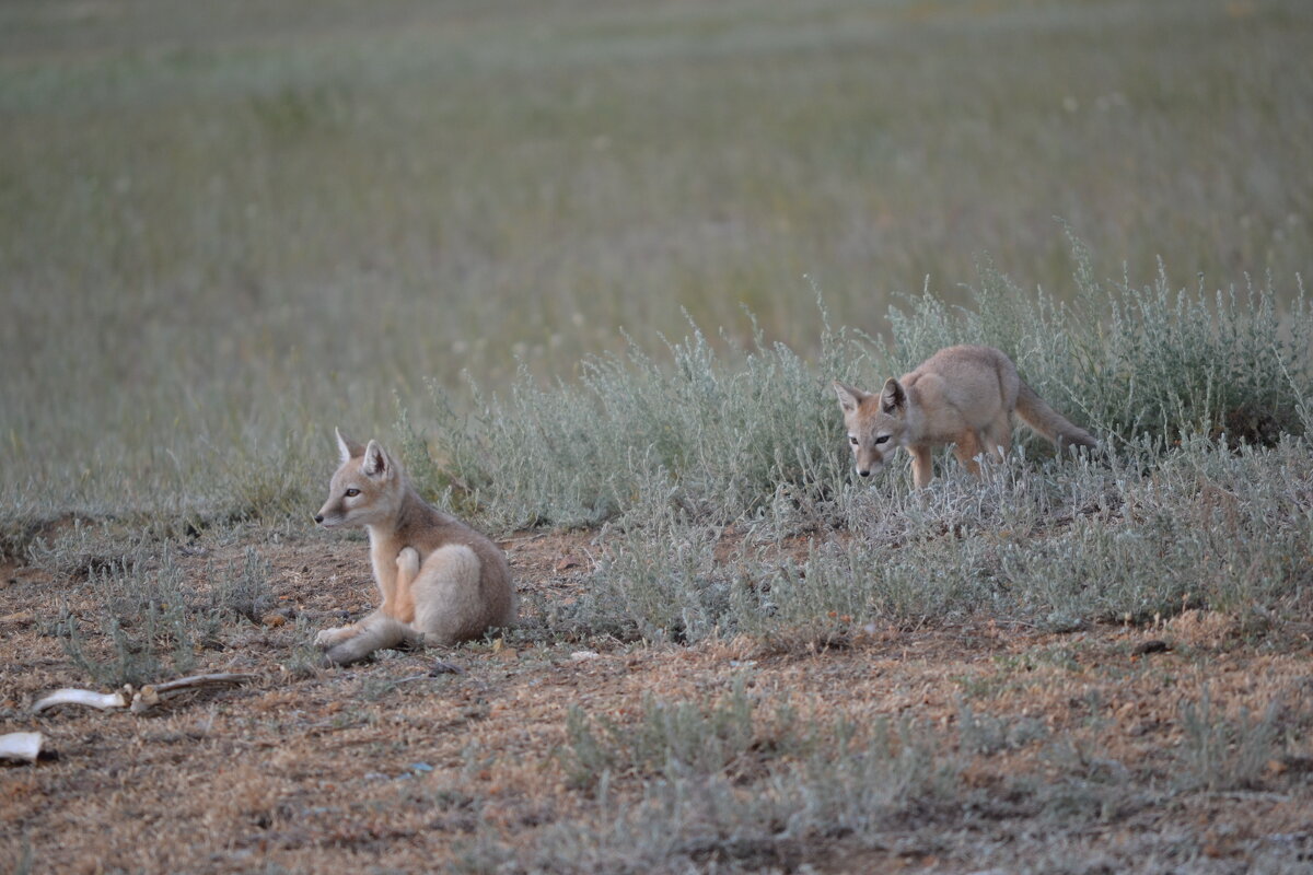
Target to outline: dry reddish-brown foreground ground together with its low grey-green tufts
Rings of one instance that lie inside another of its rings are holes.
[[[240,540],[197,543],[190,584],[205,589],[206,561],[240,564],[249,546],[293,621],[230,617],[204,668],[260,680],[151,716],[25,716],[39,693],[84,678],[49,627],[55,581],[4,569],[0,729],[39,728],[56,754],[7,769],[7,862],[30,847],[34,871],[60,872],[628,871],[634,861],[650,871],[953,872],[1020,858],[1036,871],[1228,872],[1296,871],[1313,850],[1306,626],[1247,639],[1230,618],[1191,611],[1069,635],[986,622],[871,627],[838,648],[566,640],[541,621],[580,594],[592,547],[558,534],[507,542],[527,621],[500,647],[441,655],[463,673],[431,674],[435,653],[307,673],[294,655],[314,627],[365,607],[362,544]],[[1150,639],[1170,649],[1144,648]],[[596,659],[571,657],[582,649]],[[712,719],[735,695],[750,735],[731,765],[688,773],[647,757],[578,779],[571,708],[624,740],[654,737],[643,725],[660,703]],[[1247,771],[1236,771],[1243,737],[1215,749],[1191,741],[1204,698],[1222,735],[1270,715]],[[821,766],[839,757],[853,767],[843,757],[874,744],[881,725],[895,729],[893,750],[923,753],[901,773],[905,795],[877,804]],[[836,733],[859,746],[844,754]],[[689,812],[660,802],[680,781],[726,794],[727,807],[701,824],[681,819]],[[835,817],[829,828],[809,819],[813,804]],[[647,829],[668,841],[654,845]]]

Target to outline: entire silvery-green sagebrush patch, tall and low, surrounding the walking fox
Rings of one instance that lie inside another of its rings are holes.
[[[1283,317],[1271,279],[1215,299],[1173,293],[1165,270],[1102,283],[1073,248],[1073,304],[985,264],[972,307],[927,295],[878,344],[826,328],[813,363],[695,329],[670,362],[634,349],[546,388],[524,374],[469,418],[437,395],[436,453],[407,454],[491,527],[601,523],[601,560],[563,615],[576,631],[794,648],[871,621],[983,613],[1061,630],[1296,610],[1313,537],[1302,290]],[[830,380],[873,383],[957,342],[1002,348],[1108,451],[1056,459],[1022,441],[982,479],[940,453],[928,491],[905,462],[850,483]]]

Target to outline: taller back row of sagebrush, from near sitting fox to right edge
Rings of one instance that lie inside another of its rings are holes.
[[[1001,348],[1053,407],[1137,458],[1146,441],[1272,446],[1304,432],[1313,365],[1301,287],[1283,315],[1271,278],[1208,298],[1173,291],[1165,269],[1146,286],[1096,281],[1075,241],[1073,258],[1071,304],[983,262],[969,307],[926,294],[894,310],[876,344],[826,324],[815,362],[760,333],[737,349],[695,328],[667,345],[668,362],[635,345],[588,359],[578,384],[542,387],[523,371],[504,399],[475,387],[467,417],[435,388],[435,451],[410,441],[406,457],[494,527],[591,526],[656,501],[714,525],[802,508],[801,531],[844,488],[830,382],[873,386],[961,342]],[[1052,454],[1019,434],[1024,453]]]

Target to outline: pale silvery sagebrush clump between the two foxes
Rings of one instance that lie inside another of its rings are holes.
[[[435,388],[435,457],[498,527],[597,525],[646,501],[655,471],[670,504],[710,522],[783,484],[832,488],[840,426],[827,384],[864,356],[847,332],[825,331],[815,366],[759,332],[750,349],[720,352],[695,328],[668,353],[668,365],[637,345],[591,358],[576,386],[521,373],[508,397],[475,390],[465,418]],[[407,464],[428,470],[421,453]]]

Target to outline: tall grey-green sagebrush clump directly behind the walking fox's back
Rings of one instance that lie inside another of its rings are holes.
[[[986,260],[969,307],[949,310],[926,294],[895,308],[884,358],[910,369],[941,346],[998,346],[1041,397],[1116,443],[1197,433],[1272,445],[1304,432],[1313,314],[1301,283],[1281,314],[1271,275],[1215,295],[1203,281],[1195,291],[1174,289],[1161,262],[1149,285],[1102,282],[1088,252],[1071,247],[1071,303],[1023,291]]]

